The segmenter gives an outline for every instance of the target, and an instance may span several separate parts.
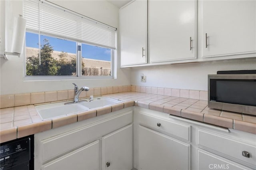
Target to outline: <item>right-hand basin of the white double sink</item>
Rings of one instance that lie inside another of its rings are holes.
[[[122,102],[118,101],[116,99],[110,99],[110,98],[107,98],[107,97],[94,97],[93,101],[79,103],[79,105],[83,105],[85,107],[88,107],[89,109],[95,109],[95,108],[98,108],[98,107],[114,105],[116,103],[122,103]]]

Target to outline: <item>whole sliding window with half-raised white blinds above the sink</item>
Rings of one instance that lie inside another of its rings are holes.
[[[46,1],[24,1],[26,77],[112,77],[116,28]]]

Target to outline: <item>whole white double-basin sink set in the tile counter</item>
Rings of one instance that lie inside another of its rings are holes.
[[[121,103],[121,101],[118,101],[116,99],[110,99],[107,97],[94,97],[93,101],[84,101],[81,103],[74,103],[69,105],[64,105],[65,103],[66,102],[39,105],[36,106],[36,110],[41,118],[43,120],[46,120],[55,117],[61,117],[64,115],[79,113],[82,111],[88,111],[89,109],[95,109],[98,107],[114,105],[116,103]]]

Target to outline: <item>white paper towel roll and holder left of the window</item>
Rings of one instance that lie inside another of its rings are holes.
[[[22,17],[22,15],[19,15],[19,17],[16,18],[15,21],[16,21],[16,23],[14,23],[14,30],[13,30],[13,35],[12,35],[13,36],[12,46],[17,45],[14,43],[14,41],[16,41],[18,38],[22,38],[23,39],[22,42],[24,42],[24,38],[25,38],[25,34],[26,34],[26,20]],[[24,22],[24,23],[22,23],[22,22]],[[22,26],[22,28],[20,28],[19,24]],[[3,54],[4,58],[8,60],[8,57],[6,55],[15,55],[15,56],[21,57],[23,45],[24,45],[23,43],[21,45],[19,45],[19,47],[18,47],[18,48],[20,48],[20,49],[18,49],[19,52],[5,51]],[[12,47],[12,50],[16,51],[17,49],[14,50]]]

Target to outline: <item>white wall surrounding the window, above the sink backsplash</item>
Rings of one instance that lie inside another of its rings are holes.
[[[1,8],[4,1],[0,0]],[[119,25],[119,9],[107,1],[100,0],[56,0],[52,1],[60,6],[69,8],[80,14],[94,18],[100,22],[118,28]],[[11,16],[15,17],[22,14],[22,1],[10,1],[8,7]],[[1,19],[5,16],[1,10]],[[13,19],[10,19],[10,23]],[[4,24],[1,22],[1,30],[4,29]],[[12,31],[12,30],[10,30]],[[1,35],[2,38],[4,35]],[[117,57],[119,58],[119,57]],[[115,61],[116,62],[116,61]],[[119,63],[119,61],[117,61]],[[117,64],[118,64],[117,63]],[[118,64],[119,65],[119,64]],[[85,80],[58,80],[58,81],[24,81],[23,73],[23,57],[18,58],[12,56],[9,60],[4,58],[0,59],[0,94],[17,94],[17,93],[33,93],[41,91],[56,91],[73,89],[72,82],[76,83],[79,87],[106,87],[118,85],[130,85],[130,69],[117,68],[116,79],[85,79]]]

